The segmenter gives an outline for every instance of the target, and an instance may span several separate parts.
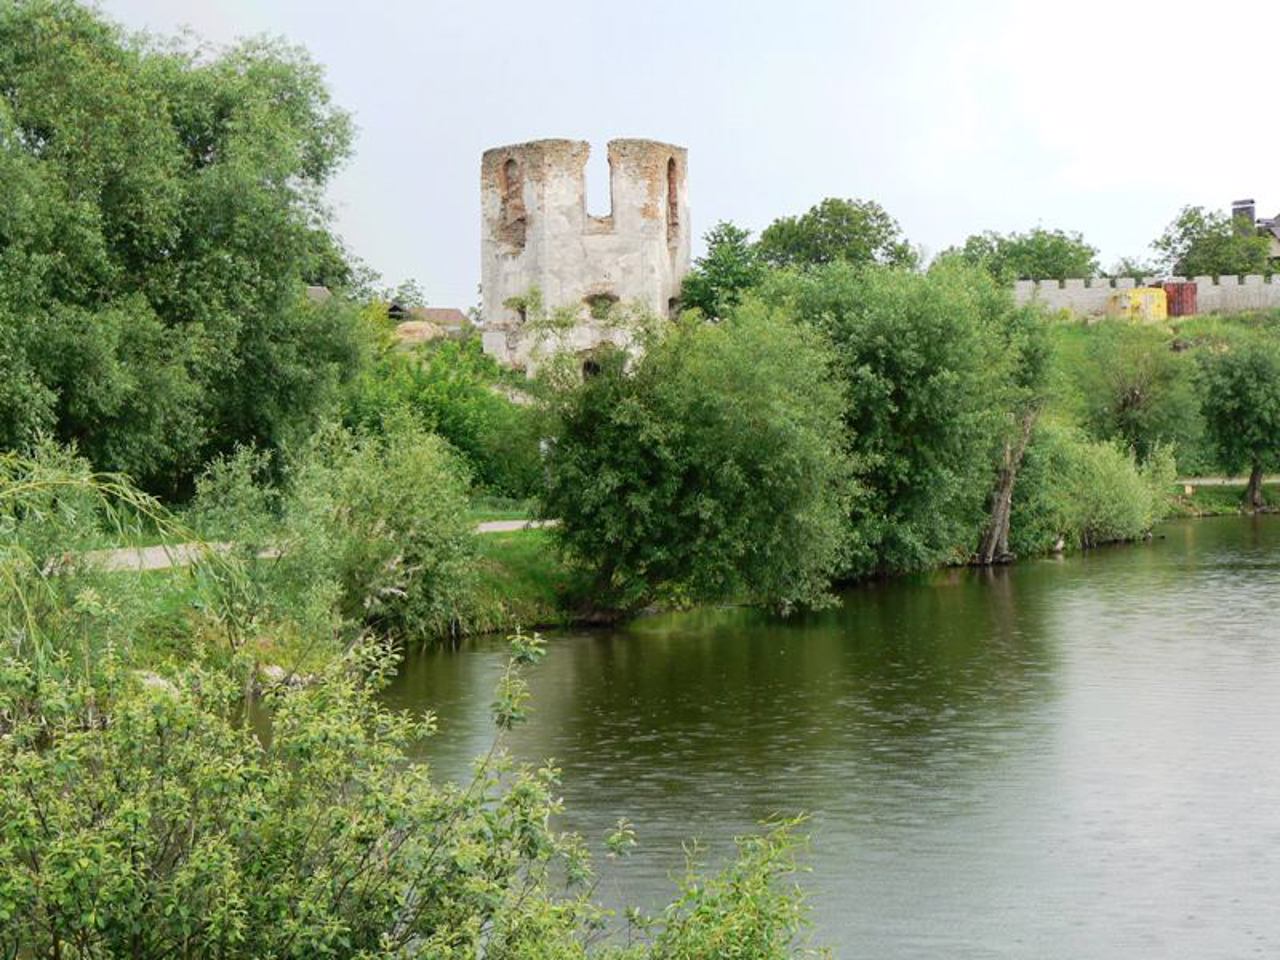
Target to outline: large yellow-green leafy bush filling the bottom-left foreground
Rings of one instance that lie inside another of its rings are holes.
[[[556,772],[499,750],[433,783],[407,762],[431,718],[374,695],[393,667],[365,645],[270,691],[265,742],[198,667],[146,681],[111,658],[92,690],[46,694],[61,712],[0,744],[4,952],[581,956],[596,911],[581,845],[548,826]],[[9,660],[0,708],[32,682]],[[82,722],[86,695],[109,722]],[[553,865],[579,886],[553,893]]]

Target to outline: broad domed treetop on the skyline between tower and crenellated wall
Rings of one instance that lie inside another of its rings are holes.
[[[783,216],[764,228],[755,244],[769,266],[882,264],[914,266],[915,251],[902,228],[872,200],[827,197],[806,214]]]

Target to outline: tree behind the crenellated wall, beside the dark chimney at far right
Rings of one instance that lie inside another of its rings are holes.
[[[1265,274],[1270,242],[1252,223],[1202,206],[1185,206],[1151,244],[1179,276]]]

